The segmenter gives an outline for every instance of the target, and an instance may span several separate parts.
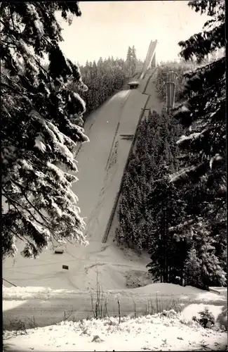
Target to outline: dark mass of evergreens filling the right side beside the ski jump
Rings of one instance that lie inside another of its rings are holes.
[[[189,6],[211,18],[179,44],[197,67],[180,67],[175,111],[153,112],[139,127],[116,240],[150,254],[155,280],[208,289],[227,282],[225,58],[203,62],[224,48],[224,2]]]

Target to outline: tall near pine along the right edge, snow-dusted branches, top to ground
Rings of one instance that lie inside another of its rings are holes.
[[[208,54],[224,48],[225,14],[224,1],[194,0],[189,1],[189,6],[196,12],[206,13],[211,19],[204,25],[203,32],[179,43],[182,47],[180,53],[182,58],[194,59],[201,65],[185,74],[186,85],[183,92],[185,102],[174,111],[175,117],[182,122],[186,131],[177,141],[180,149],[185,151],[185,167],[171,175],[170,182],[177,187],[191,184],[189,196],[185,196],[185,200],[186,210],[192,221],[186,226],[180,223],[179,228],[182,236],[189,232],[194,233],[194,237],[197,238],[195,242],[194,238],[191,239],[192,249],[189,251],[188,263],[193,263],[194,259],[191,258],[195,258],[194,256],[199,260],[203,256],[207,258],[208,265],[213,267],[209,270],[205,264],[200,282],[197,283],[198,286],[207,287],[207,282],[224,284],[223,277],[226,270],[225,58],[222,56],[205,65]],[[198,234],[205,232],[208,236],[203,237],[205,243],[202,244]],[[205,250],[203,254],[202,249]],[[191,265],[188,264],[187,268]]]

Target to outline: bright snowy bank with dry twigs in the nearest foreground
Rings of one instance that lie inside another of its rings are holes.
[[[60,322],[4,332],[4,351],[225,351],[227,333],[203,329],[174,310],[138,318]]]

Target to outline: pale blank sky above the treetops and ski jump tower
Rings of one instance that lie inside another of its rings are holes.
[[[58,16],[65,42],[62,51],[80,64],[98,61],[100,56],[126,58],[128,46],[146,57],[151,40],[158,40],[158,61],[177,58],[180,40],[200,32],[206,15],[187,6],[188,1],[80,1],[81,18],[68,25]]]

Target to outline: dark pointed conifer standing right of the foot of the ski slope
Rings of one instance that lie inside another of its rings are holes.
[[[168,172],[168,168],[164,170]],[[161,282],[176,283],[176,277],[180,277],[180,282],[183,282],[184,262],[189,246],[186,241],[177,241],[173,234],[173,226],[185,213],[180,193],[168,182],[164,170],[159,179],[153,182],[149,201],[146,203],[153,219],[153,241],[148,248],[152,262],[147,268]]]

